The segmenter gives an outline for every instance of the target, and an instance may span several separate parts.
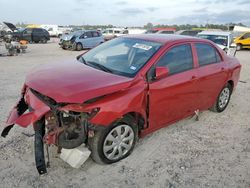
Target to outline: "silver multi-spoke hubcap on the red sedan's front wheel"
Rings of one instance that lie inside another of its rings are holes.
[[[109,160],[121,159],[132,148],[134,131],[128,125],[119,125],[113,128],[103,144],[103,153]]]

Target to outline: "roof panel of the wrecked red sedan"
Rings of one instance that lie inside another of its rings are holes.
[[[207,42],[205,39],[200,39],[197,37],[184,36],[184,35],[175,35],[175,34],[135,34],[135,35],[125,35],[121,36],[123,38],[134,38],[142,39],[151,42],[158,42],[161,44],[166,44],[171,41],[203,41]]]

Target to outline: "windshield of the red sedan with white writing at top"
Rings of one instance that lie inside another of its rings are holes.
[[[160,47],[156,42],[117,38],[88,51],[79,60],[106,72],[134,77]]]

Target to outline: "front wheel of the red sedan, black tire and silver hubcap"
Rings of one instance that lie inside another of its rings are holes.
[[[117,130],[121,130],[120,136],[124,136],[123,139],[119,139]],[[99,164],[118,162],[130,155],[137,138],[138,126],[130,119],[123,119],[103,130],[96,131],[95,136],[88,139],[91,157]]]

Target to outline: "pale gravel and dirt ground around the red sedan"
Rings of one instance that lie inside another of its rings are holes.
[[[0,131],[26,73],[77,54],[49,43],[0,57]],[[225,112],[205,111],[199,121],[189,118],[163,128],[141,139],[131,156],[116,164],[89,159],[73,169],[53,154],[48,174],[39,176],[34,138],[23,134],[33,130],[16,126],[0,138],[0,187],[250,187],[250,51],[237,57],[243,65],[241,82]]]

